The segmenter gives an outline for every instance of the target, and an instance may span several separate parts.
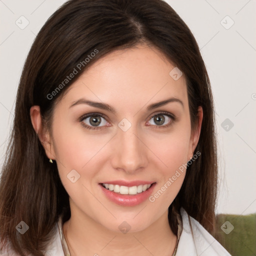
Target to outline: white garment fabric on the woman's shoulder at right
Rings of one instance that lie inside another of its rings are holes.
[[[231,256],[231,254],[194,218],[181,208],[183,229],[176,256]]]

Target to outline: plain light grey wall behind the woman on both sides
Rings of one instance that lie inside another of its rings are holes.
[[[256,212],[256,1],[166,1],[194,34],[211,81],[220,157],[217,212]],[[63,2],[0,0],[0,164],[26,55]]]

